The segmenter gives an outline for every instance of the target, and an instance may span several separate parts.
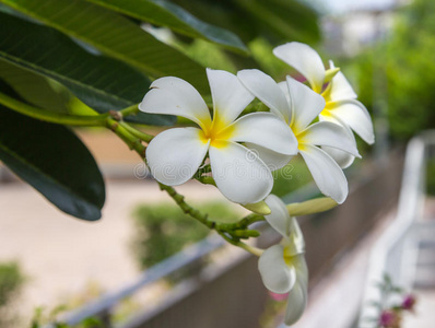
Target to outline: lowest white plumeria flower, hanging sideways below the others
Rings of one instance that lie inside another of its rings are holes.
[[[283,238],[279,245],[264,250],[258,260],[258,269],[269,291],[289,293],[284,323],[293,325],[307,304],[308,269],[304,257],[304,236],[296,219],[289,215],[281,199],[270,195],[266,202],[272,212],[264,218]]]

